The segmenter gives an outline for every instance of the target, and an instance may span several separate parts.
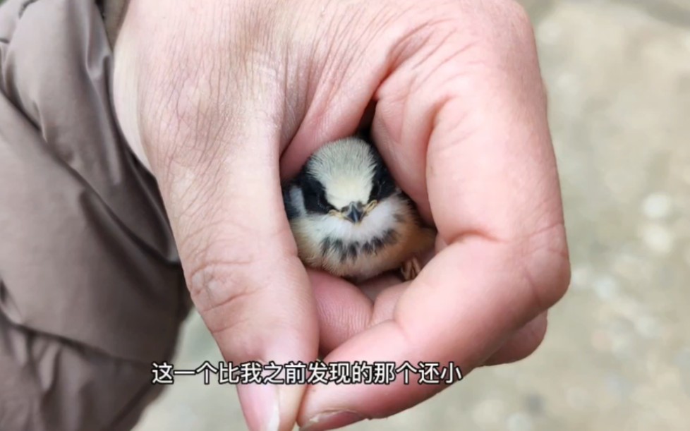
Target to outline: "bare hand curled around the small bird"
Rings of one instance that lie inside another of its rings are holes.
[[[540,344],[570,272],[520,6],[131,0],[115,58],[123,133],[159,181],[190,294],[226,360],[309,362],[320,352],[453,361],[467,375]],[[411,283],[359,289],[297,257],[280,181],[363,122],[439,232]],[[320,430],[442,389],[397,381],[238,393],[251,430],[295,421]]]

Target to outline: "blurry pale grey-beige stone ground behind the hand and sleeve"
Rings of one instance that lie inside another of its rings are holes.
[[[573,264],[531,358],[352,430],[690,430],[690,0],[523,1]],[[220,359],[196,315],[178,367]],[[138,431],[243,430],[234,389],[178,382]]]

